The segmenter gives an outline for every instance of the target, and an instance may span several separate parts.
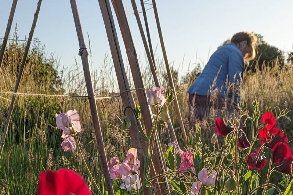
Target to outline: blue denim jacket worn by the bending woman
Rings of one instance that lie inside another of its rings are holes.
[[[210,86],[212,86],[214,79],[219,72],[213,90],[217,88],[220,90],[219,95],[224,97],[227,92],[227,76],[230,83],[240,84],[243,77],[243,71],[244,60],[241,51],[234,43],[226,44],[213,53],[202,73],[192,83],[187,93],[208,95]],[[232,101],[232,94],[228,94],[228,98]],[[235,90],[234,103],[238,104],[239,102],[240,91]]]

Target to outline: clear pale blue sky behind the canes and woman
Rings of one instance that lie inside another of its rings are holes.
[[[126,9],[132,10],[130,0],[123,0]],[[151,2],[151,1],[149,1]],[[136,0],[139,11],[140,1]],[[1,0],[0,37],[4,36],[12,0]],[[19,0],[13,20],[17,23],[19,38],[28,37],[37,0]],[[92,44],[93,68],[99,69],[105,52],[110,53],[103,19],[97,0],[77,0],[84,35],[89,33]],[[150,8],[151,5],[146,5]],[[188,62],[207,62],[210,55],[224,40],[238,31],[254,31],[264,40],[281,50],[292,51],[293,44],[292,0],[157,0],[161,27],[169,62],[177,68],[185,55],[183,73]],[[113,11],[114,13],[114,11]],[[147,11],[154,47],[159,43],[153,9]],[[142,13],[140,14],[143,21]],[[128,23],[138,54],[144,56],[135,16],[127,12]],[[115,16],[114,16],[115,19]],[[143,23],[144,24],[144,23]],[[116,23],[116,29],[119,30]],[[125,48],[118,31],[121,51],[126,59]],[[44,0],[42,2],[34,37],[45,44],[47,52],[61,57],[61,64],[71,66],[78,56],[78,40],[69,0]],[[86,42],[88,38],[85,37]],[[158,47],[157,55],[161,56]],[[145,62],[143,57],[143,62]],[[180,68],[181,70],[181,68]]]

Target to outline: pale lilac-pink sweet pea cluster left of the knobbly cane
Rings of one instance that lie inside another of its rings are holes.
[[[62,149],[64,151],[71,150],[72,152],[76,150],[76,142],[72,134],[80,133],[81,122],[77,110],[68,110],[66,113],[56,114],[56,125],[62,130],[63,141],[61,143]]]

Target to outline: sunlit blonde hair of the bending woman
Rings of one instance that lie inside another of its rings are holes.
[[[253,33],[239,32],[233,35],[231,43],[239,44],[242,41],[247,41],[247,45],[250,47],[250,52],[245,55],[246,60],[252,60],[255,58],[255,47],[257,43],[257,37]]]

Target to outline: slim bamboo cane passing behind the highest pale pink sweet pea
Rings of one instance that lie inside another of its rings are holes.
[[[137,10],[137,7],[136,7],[135,0],[131,0],[131,3],[132,3],[132,8],[133,8],[133,11],[134,11],[134,14],[135,14],[135,17],[136,17],[136,21],[137,21],[137,24],[138,24],[138,27],[139,27],[139,32],[140,32],[141,38],[143,40],[143,45],[144,45],[144,49],[145,49],[146,54],[147,54],[147,59],[148,59],[149,64],[150,64],[150,69],[151,69],[152,74],[153,74],[155,85],[156,85],[156,87],[160,87],[160,83],[159,83],[158,76],[157,76],[157,71],[156,71],[156,68],[154,66],[154,60],[152,59],[152,56],[150,54],[150,50],[149,50],[149,48],[147,46],[147,39],[146,39],[146,36],[145,36],[145,34],[143,32],[143,25],[141,24],[141,21],[140,21],[140,18],[139,18],[139,14],[138,14],[138,10]],[[169,114],[168,114],[168,117],[170,119]],[[171,121],[171,119],[170,119],[170,121]],[[175,135],[172,123],[168,122],[167,125],[168,125],[167,126],[167,131],[170,132],[170,136],[171,136],[171,139],[172,139],[172,140],[169,140],[169,142],[171,142],[171,141],[176,141],[177,142],[176,135]],[[168,133],[167,133],[167,135],[168,135]]]

